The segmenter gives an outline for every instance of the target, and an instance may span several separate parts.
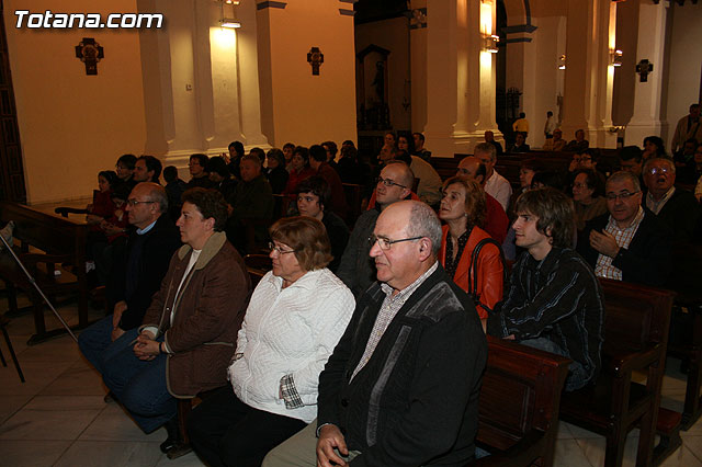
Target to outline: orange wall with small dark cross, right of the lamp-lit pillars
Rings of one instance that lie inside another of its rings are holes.
[[[351,4],[291,1],[257,12],[261,128],[272,146],[355,140],[353,16],[339,9]],[[307,62],[312,47],[324,54],[319,76]]]

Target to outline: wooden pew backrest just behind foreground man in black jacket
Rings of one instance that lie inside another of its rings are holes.
[[[490,335],[477,440],[505,451],[532,430],[555,430],[570,360]]]

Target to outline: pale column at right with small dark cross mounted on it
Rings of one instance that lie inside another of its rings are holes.
[[[641,2],[638,7],[638,46],[636,64],[647,59],[653,64],[653,72],[646,82],[641,82],[636,75],[634,87],[634,114],[626,125],[625,145],[642,147],[644,138],[661,135],[668,123],[661,121],[663,114],[663,68],[666,47],[667,2],[655,4]],[[632,70],[633,72],[633,70]]]

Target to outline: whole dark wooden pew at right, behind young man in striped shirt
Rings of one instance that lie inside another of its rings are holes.
[[[601,280],[607,309],[602,372],[593,387],[564,392],[561,419],[607,436],[604,466],[621,466],[635,426],[637,466],[653,465],[670,310],[675,293]],[[632,381],[633,372],[646,384]]]

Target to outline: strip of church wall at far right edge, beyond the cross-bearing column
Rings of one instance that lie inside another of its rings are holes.
[[[672,134],[678,119],[688,114],[693,102],[700,101],[702,84],[702,7],[686,2],[684,5],[671,2],[672,24],[669,43],[669,66],[667,86],[667,106],[664,116],[668,121],[666,148],[670,150]]]

